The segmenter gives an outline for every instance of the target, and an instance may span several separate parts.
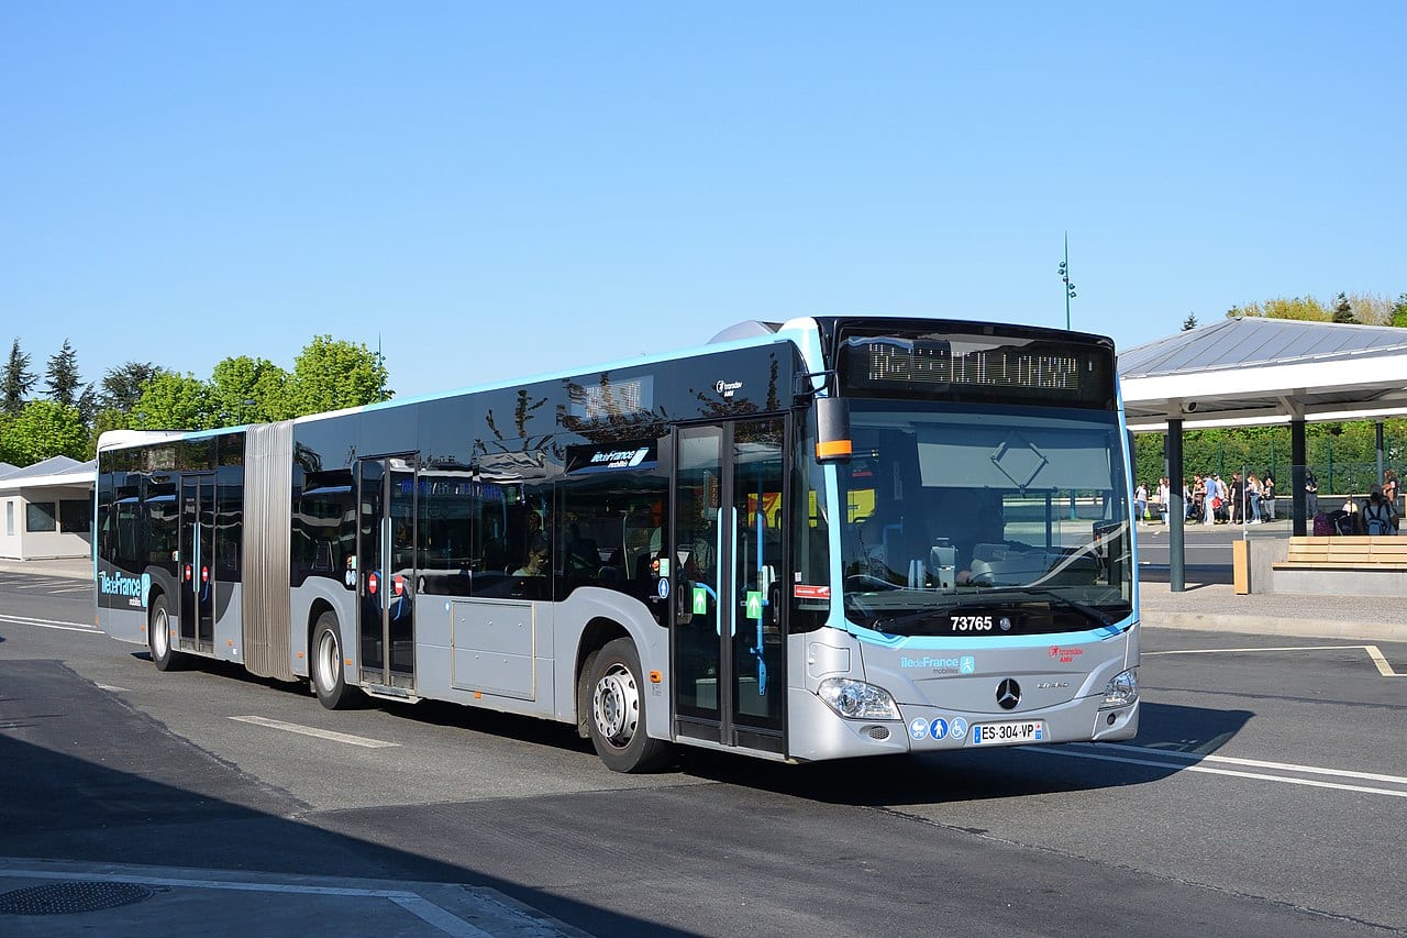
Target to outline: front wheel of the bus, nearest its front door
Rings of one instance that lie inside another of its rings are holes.
[[[651,772],[670,745],[644,731],[640,655],[629,638],[606,642],[591,666],[591,745],[612,772]]]

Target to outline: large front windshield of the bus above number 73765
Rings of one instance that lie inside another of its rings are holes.
[[[1119,418],[853,400],[850,621],[903,635],[1083,631],[1131,611]]]

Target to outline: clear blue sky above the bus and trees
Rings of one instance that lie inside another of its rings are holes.
[[[398,394],[747,318],[1407,292],[1407,4],[7,3],[0,341]]]

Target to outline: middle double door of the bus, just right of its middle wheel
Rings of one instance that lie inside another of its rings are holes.
[[[357,462],[362,680],[415,689],[415,458]]]

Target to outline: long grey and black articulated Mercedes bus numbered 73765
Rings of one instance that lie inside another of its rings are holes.
[[[1109,339],[816,317],[529,382],[104,434],[97,615],[357,696],[805,762],[1127,739]]]

